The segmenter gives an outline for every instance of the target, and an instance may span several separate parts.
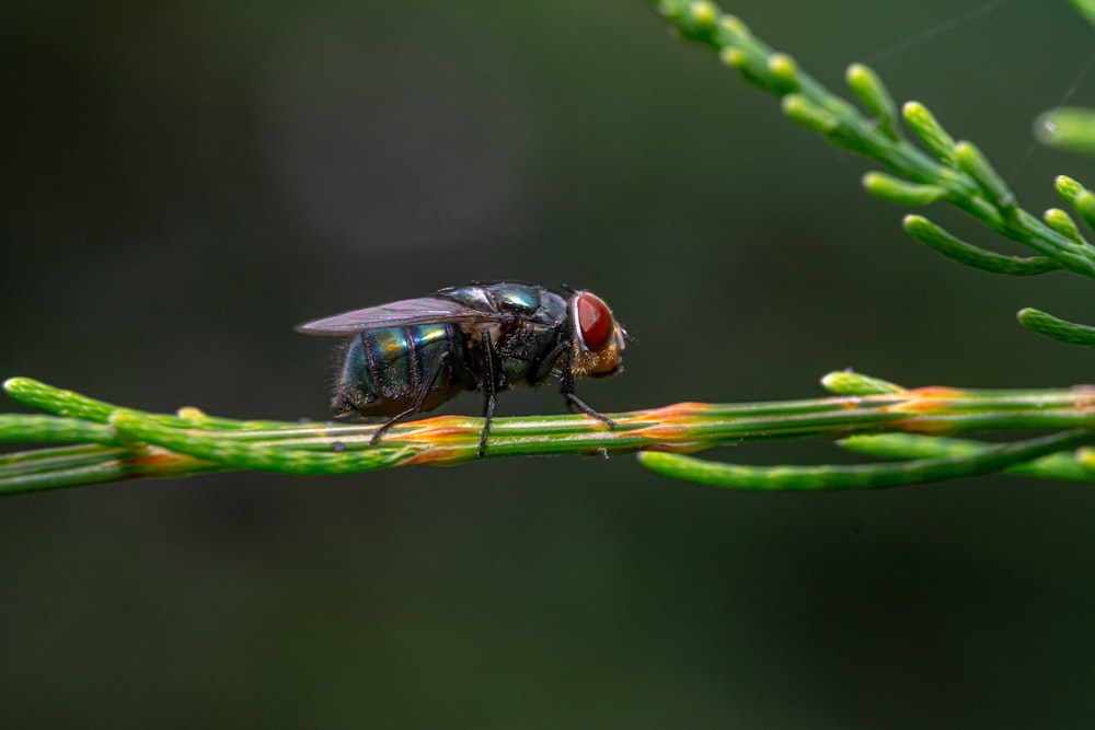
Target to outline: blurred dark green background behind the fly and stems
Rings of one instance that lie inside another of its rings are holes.
[[[978,4],[734,10],[840,86]],[[1015,0],[876,67],[1041,210],[1052,175],[1095,177],[1027,154],[1091,44],[1064,3]],[[918,247],[863,161],[639,0],[5,0],[0,100],[4,376],[324,417],[328,343],[291,325],[516,278],[593,289],[636,336],[580,391],[604,410],[814,396],[849,366],[1092,380],[1013,320],[1091,322],[1090,282]],[[7,499],[0,725],[1091,727],[1093,514],[1086,486],[734,494],[627,457]]]

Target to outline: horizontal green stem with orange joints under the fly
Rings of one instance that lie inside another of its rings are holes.
[[[823,383],[839,395],[772,403],[679,403],[611,414],[615,421],[612,429],[584,415],[498,418],[492,426],[486,456],[694,452],[729,443],[840,440],[881,432],[935,436],[1082,429],[1086,433],[1095,429],[1095,389],[1085,386],[1046,391],[906,390],[852,372],[830,373]],[[26,378],[11,379],[4,387],[16,401],[54,415],[0,415],[0,440],[73,445],[0,456],[0,494],[231,470],[334,475],[413,464],[458,464],[475,460],[483,428],[481,418],[440,416],[396,425],[378,445],[370,447],[377,428],[370,424],[233,420],[207,416],[195,408],[183,408],[178,415],[149,414]],[[1073,441],[1082,440],[1070,436],[1061,442],[1045,443],[1057,443],[1058,451],[1063,451]],[[883,465],[881,472],[891,472],[890,476],[876,474],[871,477],[876,482],[856,486],[881,486],[879,479],[887,478],[903,484],[945,474],[998,471],[1036,457],[1034,451],[1025,449],[1016,445],[1006,457],[987,455],[983,450],[944,454],[953,462],[945,468]],[[1037,455],[1042,453],[1038,451]],[[657,457],[644,461],[652,467],[665,463]],[[775,476],[773,484],[782,484],[777,473],[785,467],[760,467],[765,468]],[[809,478],[815,480],[827,474],[827,467],[809,468],[814,470]],[[754,467],[753,478],[764,473],[760,470]],[[846,484],[841,482],[845,477],[834,477],[835,473],[830,471],[826,476],[832,479],[831,488],[846,488],[839,486]],[[855,478],[866,479],[866,473],[861,470]]]

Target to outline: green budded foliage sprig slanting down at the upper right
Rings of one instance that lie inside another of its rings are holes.
[[[866,114],[837,96],[802,71],[787,56],[774,51],[757,38],[739,19],[722,13],[711,2],[656,0],[656,8],[681,36],[717,51],[718,57],[746,81],[781,97],[783,113],[799,125],[823,136],[842,149],[863,154],[889,172],[872,172],[863,186],[871,195],[901,206],[950,205],[995,230],[1001,235],[1031,248],[1037,256],[998,254],[959,240],[922,216],[906,219],[913,240],[948,258],[973,268],[1008,276],[1034,276],[1067,270],[1095,278],[1095,246],[1081,233],[1072,218],[1059,209],[1042,219],[1024,210],[1003,177],[978,147],[955,140],[935,116],[918,102],[906,103],[900,117],[919,140],[913,144],[902,134],[898,105],[878,76],[854,63],[845,80]],[[1087,0],[1074,4],[1092,18]],[[1058,109],[1050,118],[1061,146],[1095,149],[1095,124],[1090,113]],[[1083,141],[1086,140],[1086,141]],[[925,152],[926,150],[926,152]],[[1062,181],[1067,181],[1062,182]],[[1058,190],[1083,220],[1095,221],[1095,197],[1071,178],[1059,178]],[[1019,317],[1029,326],[1029,317]],[[1054,318],[1050,334],[1039,334],[1073,344],[1092,344],[1086,328]],[[1069,335],[1067,331],[1074,328]]]

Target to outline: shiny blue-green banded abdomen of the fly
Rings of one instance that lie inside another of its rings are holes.
[[[435,372],[422,410],[474,387],[464,363],[463,337],[453,325],[366,329],[349,340],[343,357],[331,402],[335,415],[397,415],[412,407]]]

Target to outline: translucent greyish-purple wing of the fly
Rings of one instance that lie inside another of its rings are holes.
[[[448,299],[423,297],[404,299],[380,306],[343,312],[334,316],[297,325],[297,332],[306,335],[351,335],[365,329],[383,327],[406,327],[415,324],[500,322],[505,315],[498,312],[483,312]]]

